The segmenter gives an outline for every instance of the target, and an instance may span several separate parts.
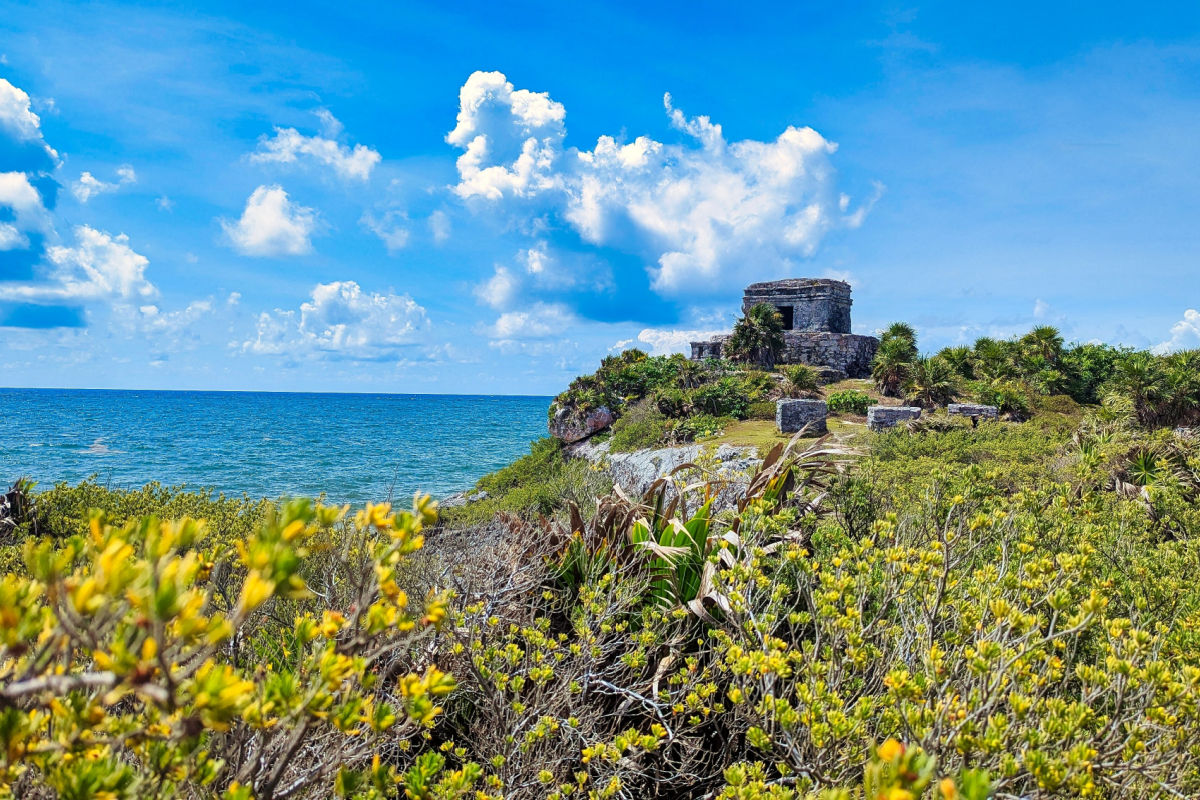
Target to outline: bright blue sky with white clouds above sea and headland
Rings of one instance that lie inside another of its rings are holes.
[[[553,393],[785,276],[1200,345],[1200,6],[978,8],[0,1],[0,384]]]

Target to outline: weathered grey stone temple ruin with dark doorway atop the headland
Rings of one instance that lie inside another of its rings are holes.
[[[827,379],[868,378],[880,341],[850,332],[850,284],[828,278],[787,278],[751,283],[742,297],[742,313],[766,302],[784,318],[781,363],[824,367]],[[694,361],[719,359],[730,336],[691,343]],[[840,374],[839,374],[840,373]]]

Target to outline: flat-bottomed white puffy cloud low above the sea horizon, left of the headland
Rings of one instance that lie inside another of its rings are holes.
[[[366,293],[354,281],[320,283],[299,311],[263,312],[254,354],[325,355],[356,360],[394,357],[428,327],[425,308],[408,295]]]

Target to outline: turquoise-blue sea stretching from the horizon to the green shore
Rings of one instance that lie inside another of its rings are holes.
[[[361,504],[469,488],[546,435],[548,397],[0,389],[0,481],[96,475]]]

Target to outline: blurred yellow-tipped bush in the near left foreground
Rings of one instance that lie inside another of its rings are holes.
[[[198,521],[98,512],[84,535],[29,539],[25,573],[0,579],[0,795],[391,796],[380,747],[420,738],[455,685],[414,654],[445,600],[392,582],[433,505],[343,515],[288,503],[232,548]],[[366,569],[346,576],[355,604],[317,613],[302,569],[335,527]],[[280,619],[287,603],[310,610]]]

